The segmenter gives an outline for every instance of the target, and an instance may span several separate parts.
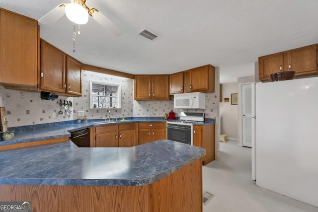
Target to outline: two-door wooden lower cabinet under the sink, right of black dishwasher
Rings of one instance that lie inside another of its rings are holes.
[[[95,127],[95,147],[131,147],[137,145],[136,125],[136,123],[129,123]]]

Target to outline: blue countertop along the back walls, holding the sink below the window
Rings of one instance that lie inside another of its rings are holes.
[[[61,123],[49,123],[43,125],[30,125],[25,127],[15,127],[9,130],[14,130],[14,138],[12,140],[3,141],[0,140],[1,145],[24,143],[31,141],[42,141],[50,139],[67,138],[71,136],[71,133],[77,130],[85,129],[91,126],[102,126],[100,124],[95,124],[94,122],[103,121],[89,120],[88,123],[76,124],[74,121],[61,122]],[[117,123],[107,123],[103,125],[111,124],[127,124],[132,122],[166,122],[164,119],[152,119],[147,117],[140,118],[128,118],[127,122],[117,122]],[[205,122],[204,124],[214,124],[214,122]]]

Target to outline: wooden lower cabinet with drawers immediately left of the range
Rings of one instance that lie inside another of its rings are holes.
[[[138,123],[138,144],[166,139],[165,122]]]

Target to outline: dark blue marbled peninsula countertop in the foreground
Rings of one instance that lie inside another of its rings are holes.
[[[149,185],[203,157],[205,149],[161,140],[134,147],[77,147],[72,141],[0,152],[0,184]]]

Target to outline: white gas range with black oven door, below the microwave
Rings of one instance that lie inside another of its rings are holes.
[[[204,113],[180,112],[179,117],[167,121],[167,139],[193,145],[193,123],[203,123]]]

